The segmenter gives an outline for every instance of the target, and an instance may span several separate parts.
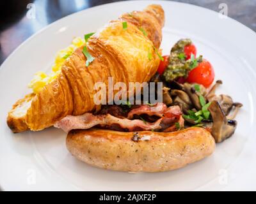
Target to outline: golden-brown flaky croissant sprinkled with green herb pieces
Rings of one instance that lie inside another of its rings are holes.
[[[87,49],[94,57],[93,62],[86,66],[83,47],[77,48],[65,60],[54,81],[13,105],[8,113],[8,126],[13,132],[39,131],[66,115],[97,110],[93,86],[96,82],[108,84],[108,77],[113,77],[114,83],[126,85],[147,82],[159,65],[156,49],[161,44],[163,25],[164,11],[159,5],[125,13],[109,22],[88,40]]]

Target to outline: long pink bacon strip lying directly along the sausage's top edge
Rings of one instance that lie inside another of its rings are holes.
[[[143,112],[145,113],[145,112]],[[149,112],[147,112],[149,113]],[[129,114],[129,113],[128,113]],[[68,115],[54,124],[54,127],[61,128],[65,132],[71,129],[89,129],[93,126],[100,126],[102,128],[110,128],[118,126],[118,128],[124,131],[138,131],[138,130],[152,130],[162,131],[170,126],[173,126],[175,122],[180,120],[181,111],[179,106],[166,107],[163,112],[163,117],[157,119],[155,122],[146,122],[138,119],[121,119],[110,115],[109,113],[103,115],[93,115],[93,113],[84,113],[83,115]],[[183,127],[183,124],[180,124]],[[114,128],[115,129],[115,128]]]

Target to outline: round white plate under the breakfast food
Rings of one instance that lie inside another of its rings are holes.
[[[24,94],[36,71],[49,71],[54,55],[74,36],[96,31],[126,11],[142,10],[152,1],[106,4],[75,13],[20,45],[0,69],[0,185],[4,190],[256,190],[255,47],[256,34],[230,18],[183,3],[156,1],[165,11],[164,54],[180,38],[191,38],[199,54],[211,61],[219,92],[243,103],[232,138],[214,154],[186,168],[164,173],[124,173],[93,168],[77,161],[65,147],[65,133],[49,128],[13,134],[6,114]]]

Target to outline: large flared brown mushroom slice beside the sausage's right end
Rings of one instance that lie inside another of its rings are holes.
[[[212,101],[208,110],[211,112],[213,120],[211,134],[216,143],[223,142],[232,136],[237,126],[236,120],[227,119],[218,101]]]

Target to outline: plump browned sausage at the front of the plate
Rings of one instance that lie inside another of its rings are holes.
[[[215,142],[203,128],[172,133],[70,131],[67,149],[85,163],[117,171],[175,170],[212,154]]]

